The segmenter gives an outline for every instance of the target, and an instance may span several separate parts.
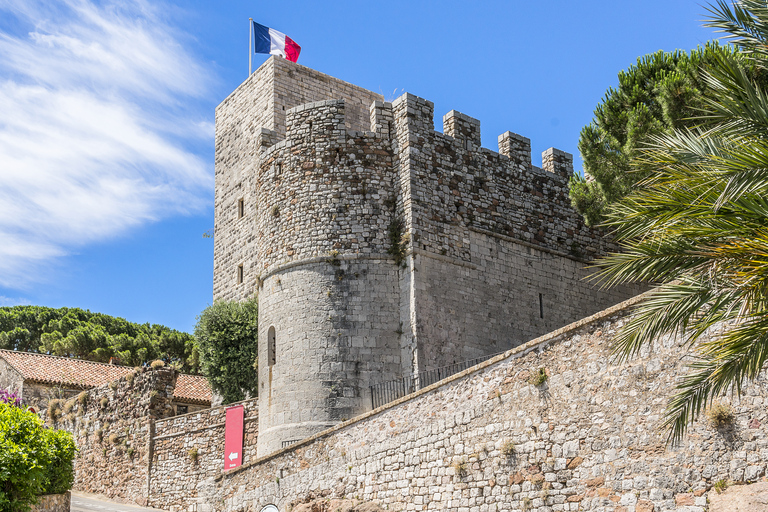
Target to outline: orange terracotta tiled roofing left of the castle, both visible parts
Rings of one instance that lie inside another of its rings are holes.
[[[129,366],[95,363],[82,359],[0,350],[0,358],[16,369],[25,381],[92,388],[133,373]],[[210,403],[211,387],[205,377],[180,374],[174,398],[185,402]]]

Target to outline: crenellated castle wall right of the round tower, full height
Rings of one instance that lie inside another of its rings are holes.
[[[568,197],[571,155],[507,132],[480,147],[480,122],[451,111],[434,130],[433,104],[393,104],[406,229],[416,258],[411,331],[418,370],[507,350],[641,291],[601,291],[587,261],[616,250]]]

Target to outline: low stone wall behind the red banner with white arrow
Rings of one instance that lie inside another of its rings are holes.
[[[245,400],[155,422],[149,505],[178,510],[224,467],[224,422],[229,407],[245,409],[243,464],[256,459],[258,400]]]

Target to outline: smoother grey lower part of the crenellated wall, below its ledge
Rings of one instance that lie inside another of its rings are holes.
[[[422,369],[496,354],[639,292],[598,290],[579,261],[465,230],[469,261],[420,251],[414,262]]]

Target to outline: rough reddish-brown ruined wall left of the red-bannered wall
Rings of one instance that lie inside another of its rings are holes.
[[[133,374],[83,391],[48,421],[68,430],[79,450],[74,489],[147,504],[154,422],[173,414],[177,373],[137,368]]]

